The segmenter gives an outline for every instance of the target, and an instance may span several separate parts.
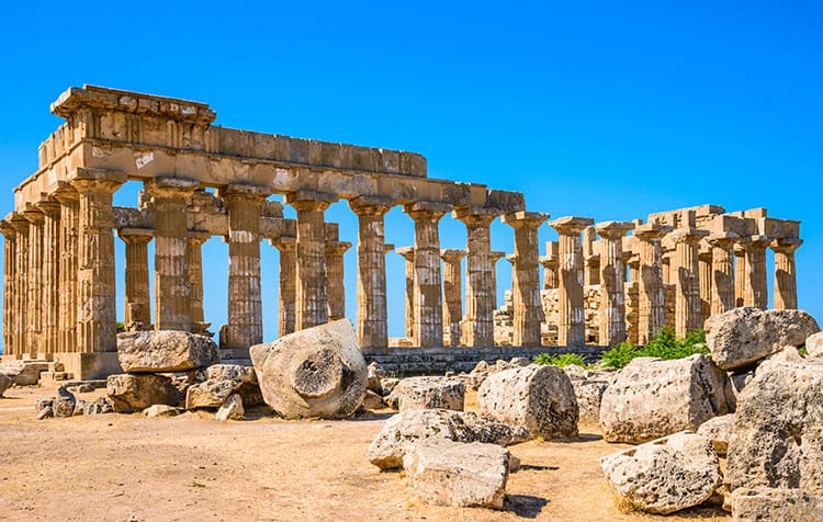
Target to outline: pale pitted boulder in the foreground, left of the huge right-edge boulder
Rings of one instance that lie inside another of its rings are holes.
[[[668,514],[708,500],[722,481],[711,441],[676,433],[602,457],[600,465],[622,502]]]

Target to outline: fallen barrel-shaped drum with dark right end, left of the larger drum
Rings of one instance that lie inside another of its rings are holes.
[[[477,406],[534,436],[577,436],[577,399],[572,382],[556,366],[531,364],[492,374],[477,392]]]

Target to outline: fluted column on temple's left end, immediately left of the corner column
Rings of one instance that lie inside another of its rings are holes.
[[[80,195],[66,184],[55,192],[60,203],[60,260],[59,260],[59,317],[57,319],[57,351],[78,351],[77,344],[77,285],[79,266]]]

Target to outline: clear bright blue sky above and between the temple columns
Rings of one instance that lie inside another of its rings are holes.
[[[432,178],[521,191],[555,217],[766,206],[803,222],[800,306],[823,319],[820,2],[49,3],[3,11],[2,214],[60,123],[48,104],[70,86],[101,84],[210,103],[227,127],[421,152]],[[116,204],[136,203],[134,184]],[[354,241],[346,204],[327,218]],[[398,209],[386,228],[390,242],[413,242]],[[443,219],[443,247],[463,247],[464,234]],[[493,243],[511,251],[511,230],[495,224]],[[278,258],[261,248],[272,339]],[[216,330],[227,250],[219,238],[204,249]],[[353,318],[354,249],[346,259]],[[397,336],[403,262],[387,259]],[[498,274],[501,294],[508,263]]]

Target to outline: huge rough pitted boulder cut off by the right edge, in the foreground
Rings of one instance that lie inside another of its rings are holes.
[[[823,495],[823,362],[767,361],[740,394],[726,484]]]

